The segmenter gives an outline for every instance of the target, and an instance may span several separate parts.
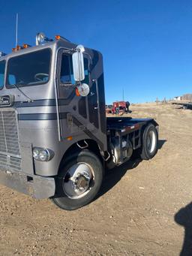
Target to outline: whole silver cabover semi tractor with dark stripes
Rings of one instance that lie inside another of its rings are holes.
[[[94,200],[107,167],[133,151],[152,158],[157,141],[154,119],[106,116],[97,50],[38,33],[34,47],[1,53],[2,185],[78,209]]]

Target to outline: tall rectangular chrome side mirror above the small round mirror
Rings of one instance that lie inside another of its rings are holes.
[[[77,52],[73,53],[73,68],[74,68],[74,80],[77,82],[81,82],[85,79],[85,71],[84,71],[84,60],[83,60],[83,52],[85,52],[85,48],[83,45],[77,46]]]

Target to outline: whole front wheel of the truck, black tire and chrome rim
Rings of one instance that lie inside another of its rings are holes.
[[[97,155],[89,150],[77,152],[62,163],[52,200],[66,210],[86,206],[98,194],[103,176],[104,168]]]

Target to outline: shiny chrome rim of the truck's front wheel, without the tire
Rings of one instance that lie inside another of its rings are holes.
[[[63,190],[71,199],[85,197],[94,185],[95,175],[87,163],[72,165],[63,179]]]

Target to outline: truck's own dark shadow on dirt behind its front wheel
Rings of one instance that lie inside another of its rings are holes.
[[[158,140],[158,150],[162,148],[164,143],[166,143],[166,140]],[[106,170],[106,175],[101,187],[101,191],[98,193],[98,196],[95,198],[95,200],[98,199],[98,197],[101,197],[103,194],[107,193],[107,191],[110,191],[110,189],[113,188],[121,180],[125,173],[127,173],[129,170],[132,170],[133,168],[136,168],[141,162],[142,159],[138,157],[138,154],[136,154],[133,155],[133,158],[131,158],[130,161],[127,161],[124,164],[121,164],[120,166],[111,170]]]

